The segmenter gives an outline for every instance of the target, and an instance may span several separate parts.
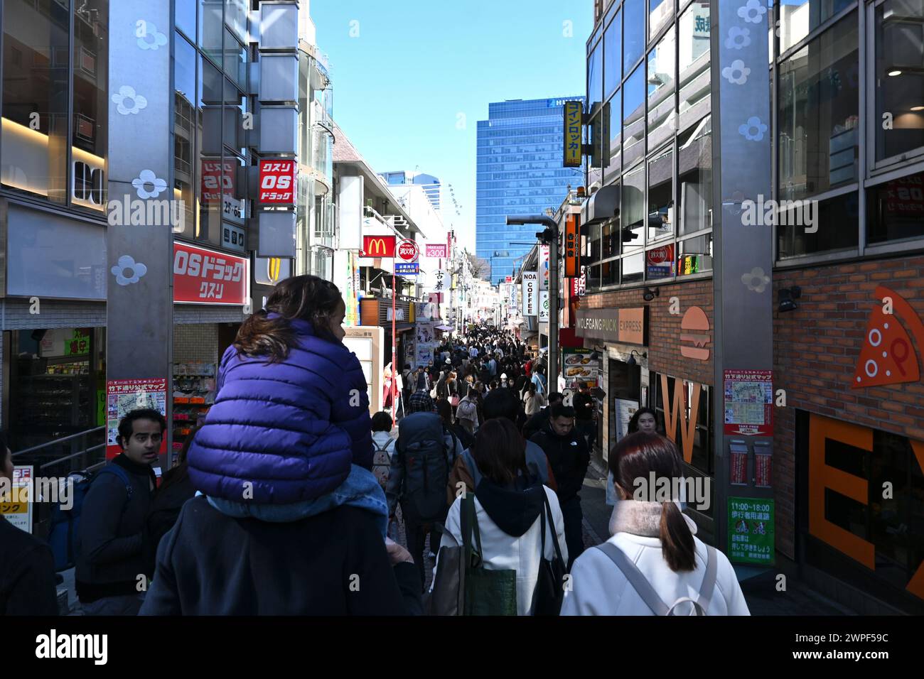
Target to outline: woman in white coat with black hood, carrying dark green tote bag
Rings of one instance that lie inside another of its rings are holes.
[[[553,525],[546,523],[545,558],[549,561],[556,558],[554,529],[562,559],[565,564],[568,561],[565,519],[558,497],[529,474],[525,451],[526,442],[517,426],[506,418],[485,420],[471,449],[481,474],[475,489],[481,561],[487,570],[517,571],[517,615],[532,614],[542,546],[541,513],[546,501],[552,510]],[[461,498],[456,497],[449,508],[441,547],[462,544],[461,503]],[[436,567],[439,568],[439,560]]]

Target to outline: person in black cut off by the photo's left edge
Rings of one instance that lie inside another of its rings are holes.
[[[12,487],[13,454],[0,432],[0,496]],[[0,514],[0,616],[57,614],[51,548]]]

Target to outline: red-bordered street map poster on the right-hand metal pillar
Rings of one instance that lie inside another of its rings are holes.
[[[725,370],[725,433],[773,435],[772,370]]]

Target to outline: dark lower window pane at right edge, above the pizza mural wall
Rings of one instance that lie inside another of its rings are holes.
[[[869,245],[924,236],[924,172],[867,191]]]

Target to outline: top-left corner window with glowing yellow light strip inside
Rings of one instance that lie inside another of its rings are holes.
[[[4,56],[10,58],[3,59],[0,181],[6,188],[64,204],[72,67],[69,10],[54,2],[5,2],[3,15]],[[96,56],[103,63],[107,59],[105,54]],[[103,68],[103,89],[104,74]]]

